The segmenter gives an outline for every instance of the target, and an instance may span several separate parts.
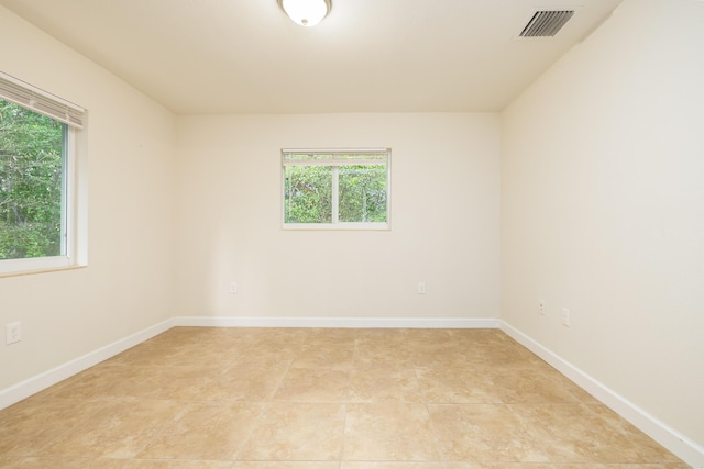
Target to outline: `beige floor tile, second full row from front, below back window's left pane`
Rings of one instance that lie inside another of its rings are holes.
[[[330,368],[290,368],[274,401],[340,402],[349,400],[350,372]]]

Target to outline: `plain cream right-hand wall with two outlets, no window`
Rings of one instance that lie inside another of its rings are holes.
[[[505,111],[502,157],[502,317],[698,445],[703,46],[704,2],[624,1]]]

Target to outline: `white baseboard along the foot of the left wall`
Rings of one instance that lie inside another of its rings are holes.
[[[66,378],[79,373],[101,361],[107,360],[110,357],[134,347],[147,340],[165,331],[168,331],[175,325],[174,319],[166,320],[162,323],[147,327],[143,331],[134,333],[128,337],[113,342],[112,344],[100,347],[97,350],[90,351],[81,357],[75,358],[63,365],[52,368],[48,371],[36,375],[24,381],[21,381],[10,388],[0,390],[0,410],[8,407],[30,395],[36,394],[46,388],[54,386]]]

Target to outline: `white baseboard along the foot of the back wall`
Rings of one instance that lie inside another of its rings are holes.
[[[408,317],[231,317],[177,316],[178,326],[199,327],[360,327],[360,328],[498,328],[497,319]]]

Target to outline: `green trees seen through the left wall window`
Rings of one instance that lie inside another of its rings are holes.
[[[0,259],[64,254],[66,124],[0,99]]]

